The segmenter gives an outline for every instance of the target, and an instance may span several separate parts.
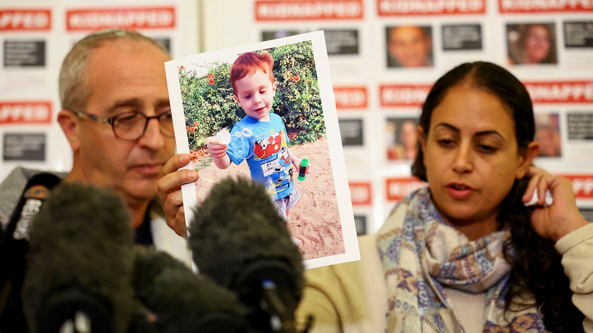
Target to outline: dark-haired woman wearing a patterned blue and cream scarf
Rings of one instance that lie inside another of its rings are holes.
[[[313,315],[315,332],[593,332],[593,225],[569,180],[531,167],[539,146],[521,82],[492,63],[452,69],[418,135],[412,173],[428,188],[359,238],[361,261],[307,272],[299,321]],[[538,206],[525,207],[534,193]]]

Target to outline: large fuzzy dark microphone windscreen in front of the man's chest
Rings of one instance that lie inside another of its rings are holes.
[[[132,246],[129,210],[113,191],[56,186],[30,231],[23,286],[30,331],[55,331],[53,325],[82,311],[93,332],[126,332],[133,312]]]

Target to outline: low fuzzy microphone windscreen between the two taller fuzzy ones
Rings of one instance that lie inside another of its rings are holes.
[[[157,331],[245,332],[247,308],[236,293],[154,248],[135,246],[136,297],[157,316]]]

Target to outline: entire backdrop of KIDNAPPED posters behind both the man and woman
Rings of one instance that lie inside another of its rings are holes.
[[[132,14],[128,9],[133,9]],[[171,11],[173,21],[167,20],[171,15],[166,13]],[[71,43],[96,28],[90,23],[122,24],[152,37],[168,38],[174,57],[323,30],[340,130],[347,131],[343,153],[350,194],[360,196],[357,184],[361,182],[368,184],[370,193],[371,200],[353,201],[355,211],[366,216],[365,232],[376,230],[397,200],[423,185],[410,178],[409,158],[390,155],[403,140],[404,131],[398,126],[417,118],[428,89],[442,73],[475,60],[505,66],[527,85],[537,114],[537,137],[546,146],[536,164],[568,176],[579,207],[591,212],[592,14],[589,0],[132,0],[125,5],[111,0],[39,0],[18,6],[2,4],[0,177],[15,165],[70,168],[69,147],[55,124],[57,75]],[[154,20],[141,20],[148,17]],[[396,30],[423,36],[425,61],[397,60],[396,47],[390,43]],[[533,60],[528,59],[538,57],[528,56],[534,53],[522,43],[530,32],[548,50],[539,63],[529,63]],[[43,150],[44,155],[40,154]],[[37,152],[33,154],[36,159],[31,159],[30,151]]]

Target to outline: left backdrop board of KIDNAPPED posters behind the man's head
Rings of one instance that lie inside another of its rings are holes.
[[[0,179],[18,165],[69,171],[72,153],[56,121],[66,52],[103,28],[138,30],[172,56],[196,52],[197,2],[60,1],[0,4]],[[164,66],[164,65],[163,65]]]

